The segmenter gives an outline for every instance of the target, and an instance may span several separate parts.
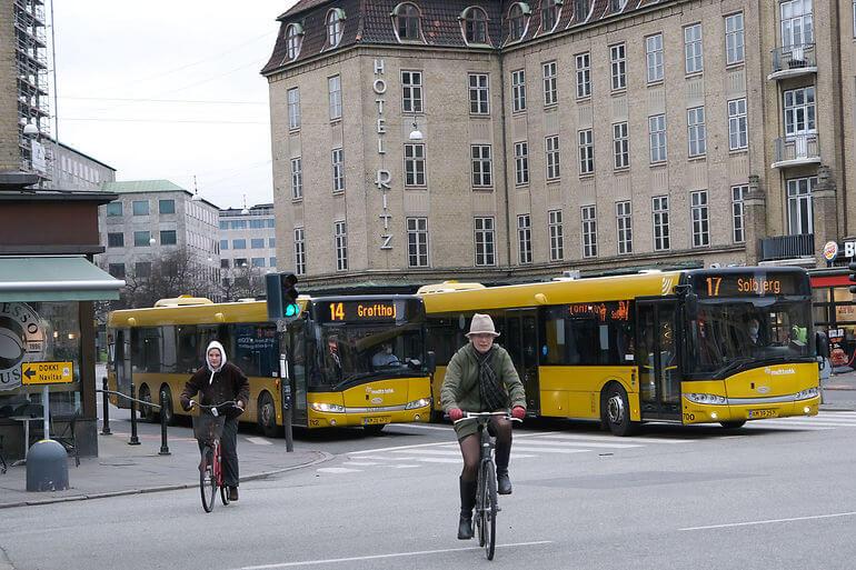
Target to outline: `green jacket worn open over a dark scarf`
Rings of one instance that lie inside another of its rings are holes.
[[[517,370],[511,362],[506,349],[494,344],[494,354],[490,357],[490,367],[496,373],[500,386],[509,394],[509,408],[521,406],[526,408],[526,392],[524,384],[517,376]],[[440,402],[442,409],[449,411],[459,408],[464,411],[496,411],[481,407],[481,398],[478,393],[478,360],[476,349],[471,342],[460,348],[446,367],[446,378],[440,389]]]

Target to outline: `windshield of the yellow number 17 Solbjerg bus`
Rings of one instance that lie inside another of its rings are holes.
[[[804,300],[716,299],[698,303],[689,321],[686,371],[736,372],[747,362],[787,362],[814,357],[812,314]]]

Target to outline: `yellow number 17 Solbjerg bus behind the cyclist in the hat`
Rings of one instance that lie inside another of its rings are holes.
[[[482,312],[501,332],[531,416],[599,420],[625,436],[646,421],[738,428],[817,413],[822,349],[798,268],[444,283],[419,293],[437,404],[445,364]]]

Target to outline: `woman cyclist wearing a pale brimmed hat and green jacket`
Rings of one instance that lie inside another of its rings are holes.
[[[511,416],[526,416],[524,384],[508,352],[494,344],[499,337],[488,314],[472,316],[467,338],[469,342],[459,349],[446,368],[440,400],[442,409],[452,421],[464,417],[464,411],[500,411],[511,408]],[[472,507],[476,504],[476,476],[479,461],[479,438],[475,422],[455,424],[464,470],[460,473],[460,521],[458,538],[472,538]],[[497,417],[490,429],[496,436],[496,472],[499,494],[510,494],[508,459],[511,454],[511,422]]]

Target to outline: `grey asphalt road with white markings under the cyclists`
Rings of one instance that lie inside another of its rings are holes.
[[[456,539],[459,457],[446,426],[299,434],[336,458],[241,486],[3,512],[16,570],[448,569],[488,562]],[[342,437],[346,436],[346,437]],[[496,559],[504,569],[852,569],[856,412],[741,430],[583,422],[516,430]],[[0,553],[0,569],[3,568]]]

